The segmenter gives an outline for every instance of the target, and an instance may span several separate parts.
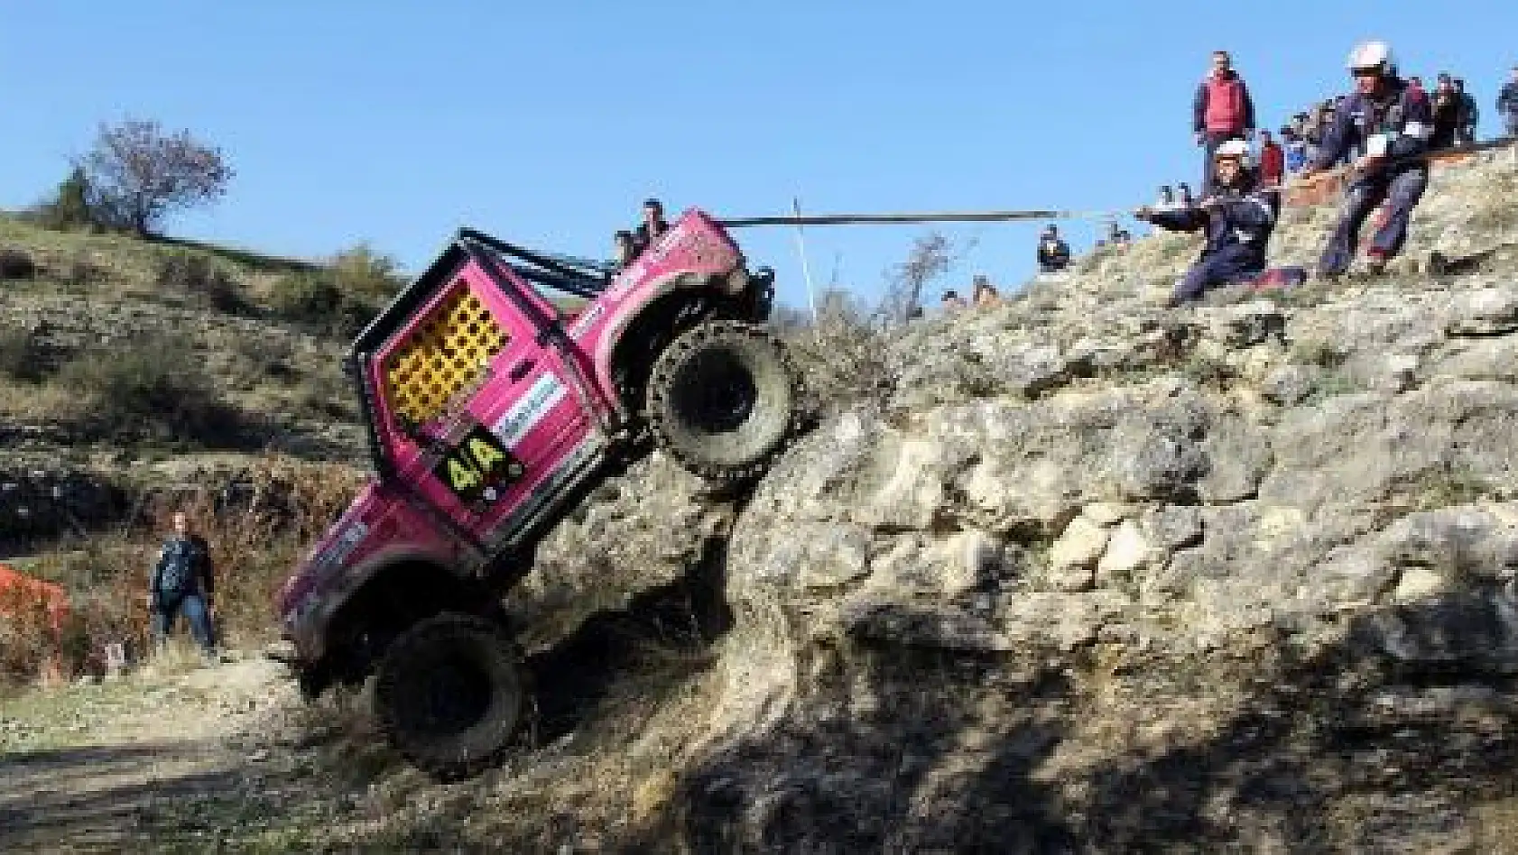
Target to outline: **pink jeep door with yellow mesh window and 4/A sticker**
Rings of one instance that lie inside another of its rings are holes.
[[[369,362],[396,474],[477,544],[509,540],[600,452],[548,309],[509,270],[465,256]]]

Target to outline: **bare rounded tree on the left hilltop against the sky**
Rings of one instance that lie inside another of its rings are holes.
[[[220,149],[190,136],[165,135],[156,121],[102,124],[94,149],[79,164],[93,206],[111,224],[149,235],[164,217],[226,194],[232,168]]]

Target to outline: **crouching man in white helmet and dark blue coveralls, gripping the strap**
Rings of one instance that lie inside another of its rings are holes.
[[[1213,156],[1213,194],[1196,208],[1155,211],[1149,206],[1134,217],[1172,232],[1205,230],[1201,258],[1176,282],[1169,306],[1196,300],[1208,288],[1252,280],[1264,271],[1264,249],[1275,230],[1281,209],[1275,188],[1260,186],[1249,162],[1249,144],[1230,139]]]

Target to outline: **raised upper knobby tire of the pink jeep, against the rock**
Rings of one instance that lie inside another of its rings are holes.
[[[798,424],[800,377],[761,326],[706,321],[680,335],[648,376],[648,428],[695,474],[739,482],[765,471]]]

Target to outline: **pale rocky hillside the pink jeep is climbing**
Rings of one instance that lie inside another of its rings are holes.
[[[656,456],[559,526],[510,599],[539,700],[502,769],[430,784],[329,699],[222,743],[325,790],[301,811],[213,790],[196,828],[232,847],[1512,850],[1515,191],[1512,152],[1436,173],[1378,277],[1164,309],[1196,243],[1163,235],[921,323],[887,347],[891,387],[751,496],[716,502]],[[1277,258],[1310,261],[1331,217],[1287,212]],[[41,716],[11,726],[29,769],[61,750]],[[144,828],[184,829],[165,822]]]

